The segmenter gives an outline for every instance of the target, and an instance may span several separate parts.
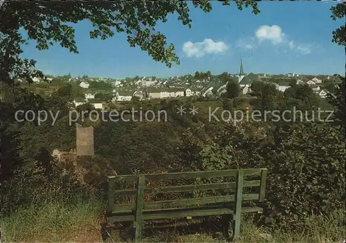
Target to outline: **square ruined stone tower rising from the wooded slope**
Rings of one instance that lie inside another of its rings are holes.
[[[94,156],[93,126],[82,127],[75,123],[75,150],[77,156]]]

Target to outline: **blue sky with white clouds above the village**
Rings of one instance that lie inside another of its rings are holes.
[[[331,42],[331,32],[345,22],[333,21],[327,1],[259,2],[259,15],[250,8],[237,10],[213,3],[212,12],[192,8],[192,28],[176,15],[159,23],[160,30],[176,47],[181,64],[168,69],[140,48],[131,48],[125,34],[111,39],[90,39],[91,24],[75,27],[79,54],[59,44],[38,51],[35,43],[23,46],[24,56],[37,60],[46,74],[125,78],[136,75],[165,77],[195,71],[237,73],[243,59],[246,73],[304,73],[345,75],[345,51]]]

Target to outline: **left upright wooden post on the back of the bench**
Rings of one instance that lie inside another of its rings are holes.
[[[140,242],[142,240],[144,186],[145,186],[145,177],[144,175],[140,175],[138,177],[138,183],[137,183],[135,242]]]

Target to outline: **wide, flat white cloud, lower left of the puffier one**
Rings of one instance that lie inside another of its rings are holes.
[[[228,49],[225,42],[214,42],[212,39],[204,39],[203,42],[185,42],[183,52],[188,57],[203,57],[206,54],[224,53]]]

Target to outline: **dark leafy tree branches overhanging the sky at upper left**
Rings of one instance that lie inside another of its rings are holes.
[[[190,3],[185,1],[112,1],[84,3],[69,1],[57,2],[13,2],[6,1],[0,9],[0,80],[13,82],[13,77],[26,76],[30,82],[37,72],[34,60],[22,59],[22,44],[27,39],[21,35],[26,30],[28,39],[37,42],[39,50],[48,49],[58,42],[72,53],[78,53],[75,43],[75,30],[70,23],[89,20],[95,28],[90,32],[91,38],[107,39],[116,33],[127,33],[127,42],[131,47],[139,46],[157,62],[168,67],[179,64],[179,57],[174,53],[174,45],[167,44],[165,35],[156,31],[158,21],[167,21],[170,14],[178,13],[183,25],[191,28]],[[229,6],[230,1],[224,1]],[[235,1],[239,10],[251,6],[253,13],[260,12],[254,1]],[[208,1],[192,1],[195,8],[204,12],[212,10]],[[32,71],[33,70],[33,71]]]

